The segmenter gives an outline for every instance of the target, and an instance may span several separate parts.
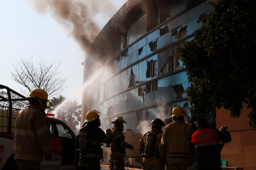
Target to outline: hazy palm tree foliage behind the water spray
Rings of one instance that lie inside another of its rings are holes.
[[[81,120],[81,105],[78,105],[76,100],[66,99],[63,96],[53,97],[50,99],[52,102],[52,108],[48,109],[49,113],[56,114],[56,118],[64,121],[73,132],[77,132]]]

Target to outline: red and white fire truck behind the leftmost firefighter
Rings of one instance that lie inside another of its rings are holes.
[[[2,92],[2,93],[1,93]],[[5,95],[2,95],[5,94]],[[26,101],[25,97],[7,86],[0,85],[0,170],[16,170],[12,132],[15,119],[20,109],[13,104]],[[76,135],[63,121],[53,118],[53,114],[46,114],[47,125],[52,138],[52,160],[41,162],[41,170],[76,170],[79,154],[76,152],[78,144]]]

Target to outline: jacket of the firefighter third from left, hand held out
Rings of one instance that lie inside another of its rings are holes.
[[[123,129],[114,127],[112,132],[112,142],[110,154],[126,156],[125,148],[129,148],[130,144],[125,142],[125,137],[123,135]]]

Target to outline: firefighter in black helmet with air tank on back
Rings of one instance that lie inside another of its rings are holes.
[[[151,121],[151,130],[145,133],[139,141],[139,155],[142,158],[143,170],[164,170],[164,158],[159,157],[158,146],[162,138],[161,119],[155,118]]]

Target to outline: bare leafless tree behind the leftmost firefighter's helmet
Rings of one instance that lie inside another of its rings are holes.
[[[10,77],[26,88],[20,89],[24,94],[28,95],[33,89],[40,88],[48,93],[49,98],[67,88],[64,86],[67,77],[57,77],[60,74],[58,68],[61,62],[49,63],[41,57],[35,62],[33,56],[27,60],[19,59],[20,61],[14,64],[15,72],[11,73]]]

